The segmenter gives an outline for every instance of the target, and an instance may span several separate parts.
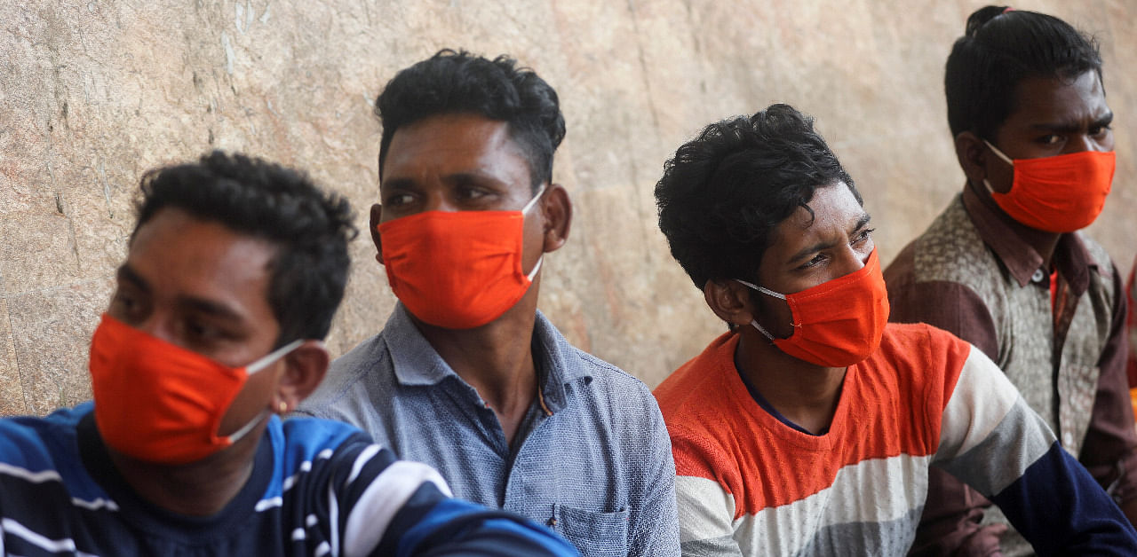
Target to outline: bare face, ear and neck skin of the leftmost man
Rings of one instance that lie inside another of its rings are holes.
[[[271,353],[280,334],[267,297],[267,264],[275,252],[217,222],[179,209],[159,210],[134,235],[107,313],[222,364],[247,365]],[[183,515],[216,514],[252,472],[265,413],[294,408],[323,379],[327,364],[323,343],[307,340],[250,375],[222,417],[218,434],[259,423],[201,461],[169,465],[108,447],[111,462],[143,499]]]

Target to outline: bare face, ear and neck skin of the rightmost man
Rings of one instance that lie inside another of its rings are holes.
[[[1074,79],[1028,77],[1015,87],[1014,110],[990,140],[1011,159],[1036,159],[1082,151],[1113,151],[1110,123],[1113,111],[1096,71]],[[984,203],[1002,216],[1015,234],[1030,244],[1048,265],[1061,234],[1038,230],[1014,220],[995,204],[984,178],[998,193],[1011,191],[1014,169],[972,132],[955,138],[955,154],[971,187]]]

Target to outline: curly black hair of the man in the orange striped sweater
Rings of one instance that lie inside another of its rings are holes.
[[[655,185],[659,229],[671,254],[703,288],[707,280],[754,280],[774,228],[818,188],[853,179],[788,104],[712,124],[675,152]]]

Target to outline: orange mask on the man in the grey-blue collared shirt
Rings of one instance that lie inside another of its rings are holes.
[[[542,254],[521,268],[525,213],[424,211],[379,225],[387,281],[414,317],[446,329],[473,329],[501,317],[529,290]]]

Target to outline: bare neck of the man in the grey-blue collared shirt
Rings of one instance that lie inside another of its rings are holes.
[[[493,408],[509,442],[537,396],[537,292],[534,282],[500,318],[474,329],[443,329],[415,319],[439,356]]]

